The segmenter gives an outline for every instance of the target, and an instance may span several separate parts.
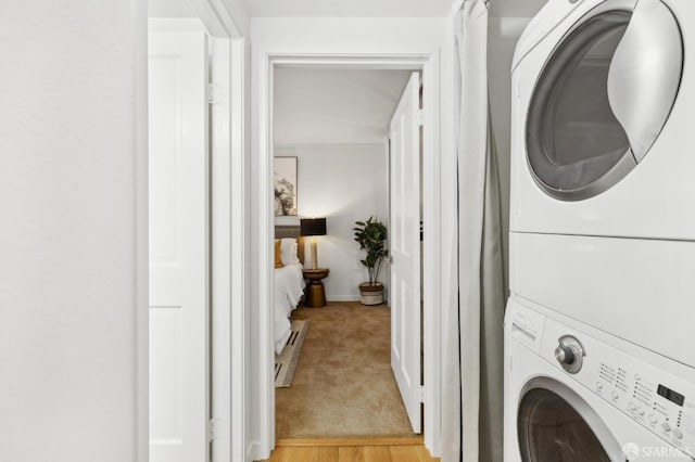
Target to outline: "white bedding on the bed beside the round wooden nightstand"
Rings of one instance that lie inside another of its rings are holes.
[[[290,313],[304,295],[302,265],[275,269],[275,351],[279,355],[290,338]]]

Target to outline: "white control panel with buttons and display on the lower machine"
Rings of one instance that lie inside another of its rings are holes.
[[[581,371],[572,377],[695,459],[695,383],[552,320],[546,321],[545,329],[551,335],[543,341],[543,356],[554,351],[557,338],[576,336],[584,347],[584,358]],[[552,362],[559,367],[557,361]]]

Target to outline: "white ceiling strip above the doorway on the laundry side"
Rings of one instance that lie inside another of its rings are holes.
[[[516,1],[516,0],[513,0]],[[442,17],[453,0],[247,0],[251,16]]]

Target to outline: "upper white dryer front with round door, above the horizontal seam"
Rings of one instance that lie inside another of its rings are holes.
[[[510,231],[695,241],[693,63],[693,0],[549,0],[513,63]]]

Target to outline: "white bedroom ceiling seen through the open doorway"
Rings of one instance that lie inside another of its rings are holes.
[[[274,143],[379,143],[410,70],[278,68],[274,74]]]

